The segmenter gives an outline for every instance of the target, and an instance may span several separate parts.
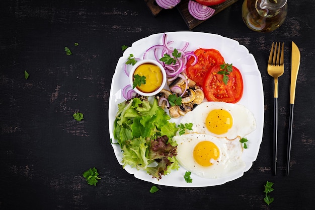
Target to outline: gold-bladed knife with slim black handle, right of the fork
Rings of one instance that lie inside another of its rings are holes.
[[[289,176],[290,156],[291,156],[291,142],[292,142],[292,128],[293,128],[293,108],[295,100],[295,87],[297,80],[297,73],[300,67],[300,50],[292,41],[292,56],[291,56],[291,88],[290,88],[290,118],[289,118],[289,132],[288,132],[288,148],[287,148],[287,165],[286,175]]]

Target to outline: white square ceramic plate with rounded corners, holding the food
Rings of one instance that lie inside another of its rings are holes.
[[[125,170],[133,174],[136,178],[152,182],[159,185],[177,186],[177,187],[204,187],[224,184],[227,181],[235,180],[243,176],[244,172],[248,171],[253,162],[256,160],[260,144],[263,136],[263,125],[264,125],[264,95],[261,74],[259,72],[256,60],[252,54],[249,53],[248,49],[240,45],[238,41],[222,37],[216,34],[200,33],[200,32],[169,32],[168,41],[174,41],[171,45],[177,49],[183,47],[185,42],[189,42],[189,47],[186,51],[194,51],[197,48],[214,48],[220,51],[224,57],[226,63],[232,63],[234,66],[240,69],[243,82],[244,82],[244,93],[242,99],[238,104],[245,105],[250,109],[257,122],[257,128],[255,131],[247,135],[249,139],[248,149],[243,152],[243,160],[246,163],[244,170],[234,174],[233,176],[218,178],[218,179],[206,179],[200,178],[194,174],[191,174],[193,179],[192,183],[186,183],[183,176],[186,170],[180,167],[178,171],[174,170],[169,175],[163,176],[162,179],[156,180],[144,171],[138,171],[135,168],[129,166],[125,167]],[[113,123],[115,115],[118,111],[117,104],[124,101],[122,96],[122,89],[129,84],[128,77],[124,72],[124,63],[126,62],[129,54],[133,54],[135,57],[142,58],[143,53],[149,47],[162,44],[163,33],[153,34],[146,38],[140,39],[132,44],[131,47],[127,48],[123,56],[119,58],[115,74],[113,76],[110,98],[109,98],[109,131],[110,137],[113,143],[117,142],[113,136]],[[152,57],[148,57],[154,59]],[[172,119],[174,122],[178,122],[181,118]],[[114,153],[118,162],[121,164],[122,152],[117,144],[112,144]]]

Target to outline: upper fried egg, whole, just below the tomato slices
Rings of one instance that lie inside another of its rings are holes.
[[[234,139],[256,129],[253,113],[243,105],[225,102],[203,102],[183,116],[180,123],[193,123],[186,133],[204,133]]]

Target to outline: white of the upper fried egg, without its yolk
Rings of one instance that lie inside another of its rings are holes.
[[[224,109],[232,115],[233,125],[226,133],[215,134],[206,127],[206,117],[213,109]],[[241,104],[225,102],[203,102],[183,116],[180,123],[193,123],[192,130],[186,129],[186,133],[204,133],[227,139],[234,139],[238,136],[244,137],[256,129],[255,117],[248,108]]]

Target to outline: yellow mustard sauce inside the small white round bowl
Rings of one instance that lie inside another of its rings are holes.
[[[145,77],[145,84],[141,84],[136,87],[143,93],[154,92],[161,87],[163,82],[163,75],[160,67],[150,63],[143,63],[139,65],[135,69],[133,75]]]

